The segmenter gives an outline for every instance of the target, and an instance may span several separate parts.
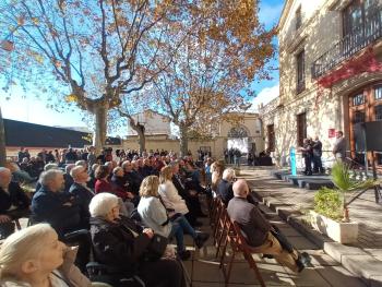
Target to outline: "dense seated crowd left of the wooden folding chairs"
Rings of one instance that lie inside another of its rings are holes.
[[[23,153],[17,166],[26,166],[33,159]],[[198,217],[206,216],[202,213],[199,198],[204,192],[201,183],[203,170],[191,156],[178,158],[172,151],[141,154],[136,151],[118,151],[117,156],[117,153],[110,154],[109,148],[97,155],[94,147],[89,147],[86,151],[41,151],[37,158],[40,162],[36,172],[38,181],[29,198],[17,182],[11,181],[11,178],[17,180],[17,177],[12,177],[10,169],[0,168],[0,235],[3,238],[14,232],[12,220],[20,217],[28,217],[32,225],[49,224],[56,237],[69,244],[73,242],[67,238],[68,232],[85,229],[92,234],[92,242],[86,238],[76,239],[75,242],[80,244],[75,264],[83,273],[89,261],[92,243],[100,263],[120,265],[118,260],[122,258],[128,259],[123,261],[127,270],[132,270],[129,262],[136,265],[139,275],[148,283],[146,286],[157,286],[155,282],[169,283],[164,286],[183,286],[182,270],[176,260],[160,260],[151,264],[145,259],[145,248],[142,254],[135,254],[135,251],[129,254],[131,247],[135,247],[134,241],[139,243],[140,240],[124,241],[121,235],[116,234],[121,240],[121,249],[116,246],[115,250],[107,248],[107,242],[103,244],[98,240],[104,240],[104,236],[99,235],[105,230],[115,228],[121,228],[123,237],[143,237],[146,241],[151,241],[153,235],[162,235],[176,241],[177,260],[190,258],[183,242],[184,235],[193,238],[198,248],[203,247],[208,235],[195,229],[201,226]],[[147,184],[148,181],[151,184]],[[116,206],[111,208],[115,217],[106,216],[110,211],[99,214],[95,207],[92,210],[92,202],[97,201],[95,199],[104,199],[98,200],[98,204],[106,207],[107,196],[111,196],[112,202],[117,201],[118,212]],[[135,215],[134,219],[130,219],[132,215]],[[126,229],[126,226],[130,229]],[[116,238],[110,240],[110,244],[115,246]],[[111,252],[118,256],[111,255]],[[174,271],[172,277],[165,272],[169,268]],[[159,276],[158,272],[155,272],[157,278],[148,276],[154,270],[163,270],[166,276]]]

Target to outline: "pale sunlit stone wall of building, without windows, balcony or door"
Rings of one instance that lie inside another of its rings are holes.
[[[342,1],[337,1],[339,4]],[[337,4],[338,4],[337,3]],[[268,124],[274,124],[275,152],[273,157],[284,166],[288,165],[289,148],[297,147],[297,115],[307,115],[308,136],[318,135],[323,143],[323,159],[330,165],[335,139],[329,137],[329,130],[342,130],[349,139],[348,96],[362,86],[382,81],[382,73],[359,74],[323,89],[319,96],[317,80],[312,77],[312,62],[327,51],[342,37],[342,10],[333,0],[286,1],[279,22],[279,98],[264,106],[260,111],[263,122],[265,147]],[[296,31],[296,10],[301,8],[302,25]],[[296,56],[305,50],[306,89],[297,94]],[[374,45],[374,52],[382,58],[381,40]],[[298,165],[302,158],[298,156]]]

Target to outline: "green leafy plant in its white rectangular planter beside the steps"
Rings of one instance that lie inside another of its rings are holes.
[[[350,194],[372,188],[372,179],[363,181],[351,177],[349,167],[336,163],[332,168],[333,189],[323,188],[314,195],[314,211],[311,211],[311,224],[322,234],[341,243],[351,243],[358,237],[358,223],[349,218]]]

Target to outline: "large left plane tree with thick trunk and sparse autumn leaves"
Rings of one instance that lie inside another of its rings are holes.
[[[53,105],[92,112],[98,146],[108,110],[166,68],[178,45],[171,35],[181,40],[184,31],[170,0],[5,0],[0,9],[4,88],[33,86]]]

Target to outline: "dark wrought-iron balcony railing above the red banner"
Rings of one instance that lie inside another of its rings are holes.
[[[341,62],[375,41],[382,36],[382,7],[377,7],[366,22],[336,43],[330,50],[318,58],[311,67],[312,77],[324,75]]]

